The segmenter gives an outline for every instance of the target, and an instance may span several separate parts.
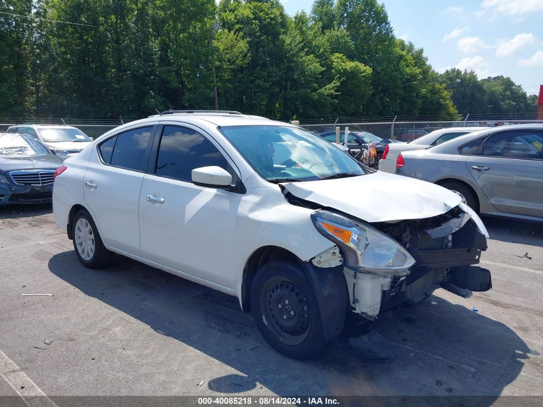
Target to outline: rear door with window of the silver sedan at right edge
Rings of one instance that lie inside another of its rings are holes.
[[[490,135],[468,170],[494,207],[515,215],[543,217],[543,131]]]

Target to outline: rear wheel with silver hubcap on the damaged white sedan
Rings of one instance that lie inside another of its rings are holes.
[[[73,248],[81,264],[89,268],[107,266],[113,256],[105,248],[96,224],[86,210],[80,210],[72,221]]]

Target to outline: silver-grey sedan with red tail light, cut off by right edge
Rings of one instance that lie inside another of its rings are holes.
[[[543,221],[543,124],[494,127],[404,151],[396,174],[457,192],[481,214]]]

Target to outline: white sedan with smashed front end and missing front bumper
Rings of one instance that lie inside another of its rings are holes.
[[[440,186],[376,172],[291,124],[170,111],[55,174],[55,220],[89,268],[122,254],[228,293],[293,358],[442,287],[491,288],[487,231]]]

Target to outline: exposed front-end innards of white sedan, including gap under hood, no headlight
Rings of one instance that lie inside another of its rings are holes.
[[[287,191],[283,193],[294,205],[334,211]],[[383,275],[347,267],[339,245],[320,253],[312,261],[318,267],[343,266],[350,305],[354,312],[370,320],[381,311],[418,303],[438,288],[469,298],[472,291],[487,291],[492,287],[490,272],[473,266],[487,249],[487,241],[486,231],[477,223],[481,221],[470,211],[458,205],[428,218],[367,223],[400,243],[416,261],[402,274]]]

